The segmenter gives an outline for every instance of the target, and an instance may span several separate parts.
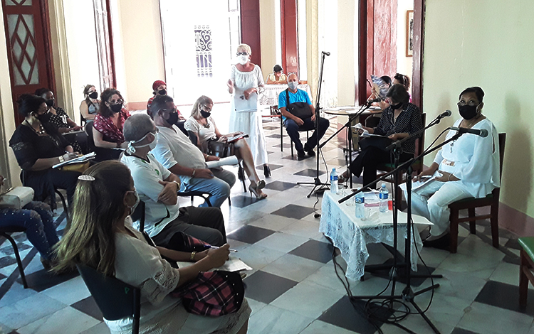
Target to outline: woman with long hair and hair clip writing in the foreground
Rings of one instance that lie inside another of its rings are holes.
[[[246,333],[251,309],[246,299],[236,313],[206,317],[187,313],[180,298],[169,296],[200,271],[221,266],[229,245],[204,252],[177,252],[153,247],[131,226],[130,212],[139,198],[128,168],[104,161],[80,176],[73,221],[57,247],[56,270],[85,264],[141,289],[140,333]],[[174,261],[192,261],[174,269]],[[105,320],[111,333],[131,333],[132,318]]]

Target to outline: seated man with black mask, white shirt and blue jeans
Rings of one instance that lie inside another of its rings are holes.
[[[202,153],[189,137],[174,124],[178,114],[169,95],[159,95],[152,100],[152,117],[159,129],[159,137],[152,151],[157,161],[182,179],[181,191],[209,193],[209,203],[219,208],[230,196],[230,188],[236,176],[223,168],[206,168],[206,161],[219,160]],[[208,206],[207,203],[200,205]]]

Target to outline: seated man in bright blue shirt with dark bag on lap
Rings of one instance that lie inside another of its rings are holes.
[[[297,85],[297,75],[290,74],[288,76],[288,89],[281,92],[278,96],[278,108],[284,118],[286,131],[288,131],[291,141],[295,143],[298,158],[304,158],[305,152],[309,156],[315,156],[313,148],[317,145],[318,140],[325,135],[328,126],[330,126],[330,121],[319,117],[319,133],[317,134],[317,131],[313,131],[312,136],[310,136],[303,146],[300,142],[298,131],[315,129],[315,107],[313,107],[308,93],[299,90]]]

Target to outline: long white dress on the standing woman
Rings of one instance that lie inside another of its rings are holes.
[[[244,99],[245,90],[265,85],[261,69],[258,65],[254,65],[254,69],[251,72],[241,72],[236,68],[236,65],[232,65],[230,78],[234,82],[234,96],[230,99],[229,131],[242,131],[249,135],[245,140],[251,148],[254,164],[261,166],[264,163],[268,163],[268,160],[261,114],[257,112],[259,98],[257,93],[253,93],[248,101]]]

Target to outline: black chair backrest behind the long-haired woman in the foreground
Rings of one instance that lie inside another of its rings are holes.
[[[130,284],[106,276],[84,264],[76,264],[85,285],[104,318],[119,320],[128,316],[134,319],[132,333],[139,332],[141,291]]]

